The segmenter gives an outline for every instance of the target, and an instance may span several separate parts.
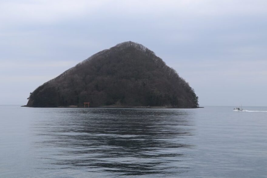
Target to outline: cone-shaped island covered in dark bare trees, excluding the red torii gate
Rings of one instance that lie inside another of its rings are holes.
[[[194,90],[143,45],[120,43],[35,89],[29,107],[198,106]]]

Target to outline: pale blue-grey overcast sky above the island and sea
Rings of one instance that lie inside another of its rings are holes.
[[[0,0],[0,104],[117,43],[174,68],[200,106],[267,106],[266,0]]]

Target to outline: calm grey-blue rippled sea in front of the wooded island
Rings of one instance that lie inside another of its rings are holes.
[[[266,178],[267,107],[0,106],[1,178]]]

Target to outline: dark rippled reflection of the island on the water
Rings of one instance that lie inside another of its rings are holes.
[[[33,131],[39,169],[162,177],[190,171],[186,109],[46,109]]]

